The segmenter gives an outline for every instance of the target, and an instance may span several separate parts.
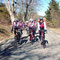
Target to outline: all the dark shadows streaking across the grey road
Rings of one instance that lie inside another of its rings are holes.
[[[35,39],[33,40],[34,43],[36,41],[38,41],[38,38],[37,37],[38,36],[35,37],[36,40]],[[4,60],[9,60],[9,58],[11,57],[11,55],[15,55],[15,56],[19,55],[20,56],[20,55],[24,55],[25,54],[24,57],[19,58],[19,60],[24,60],[24,59],[30,59],[30,60],[32,60],[32,59],[34,59],[33,57],[36,57],[36,60],[42,60],[44,58],[56,56],[56,55],[58,55],[60,53],[60,52],[59,53],[55,53],[55,54],[53,54],[51,56],[50,55],[44,56],[44,55],[40,55],[40,54],[38,55],[37,53],[35,55],[34,55],[34,53],[31,53],[31,55],[30,55],[27,52],[30,52],[31,50],[38,49],[39,47],[37,47],[36,44],[35,45],[31,45],[30,43],[28,43],[27,42],[28,41],[27,38],[28,38],[28,36],[25,36],[25,37],[22,37],[21,38],[21,47],[19,47],[20,45],[18,45],[18,48],[14,47],[14,44],[15,44],[14,41],[11,42],[8,47],[6,47],[3,51],[0,51],[0,59],[1,60],[3,60],[3,59]],[[25,43],[25,44],[23,45],[23,43]],[[60,45],[60,43],[49,45],[49,46],[47,46],[47,48],[56,47],[58,45]],[[24,51],[24,49],[22,51],[20,51],[20,48],[23,48],[23,46],[24,46],[24,48],[27,47],[27,52]],[[14,51],[17,51],[17,49],[19,49],[19,52],[18,53],[17,52],[16,53],[12,53]],[[15,58],[18,58],[18,57],[15,57]]]

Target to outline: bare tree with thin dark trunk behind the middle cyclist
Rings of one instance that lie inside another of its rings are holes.
[[[20,11],[22,11],[24,19],[28,20],[31,17],[31,12],[36,12],[36,7],[40,5],[40,0],[20,0]]]

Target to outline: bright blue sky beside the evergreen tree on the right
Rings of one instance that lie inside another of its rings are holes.
[[[41,0],[42,6],[40,7],[39,11],[37,11],[38,15],[45,16],[45,11],[47,11],[50,1],[51,0]],[[59,2],[60,6],[60,0],[56,0],[56,2]]]

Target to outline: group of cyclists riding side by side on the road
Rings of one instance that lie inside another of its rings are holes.
[[[45,39],[45,32],[47,31],[45,18],[40,17],[38,20],[34,20],[30,18],[26,22],[19,21],[17,18],[15,18],[12,24],[11,32],[14,31],[14,35],[16,35],[17,34],[16,31],[20,29],[22,35],[23,25],[29,36],[31,35],[31,31],[32,31],[32,37],[35,37],[36,30],[38,30],[40,40],[41,40],[42,31],[44,31],[43,39]],[[31,37],[30,37],[30,41],[31,41]]]

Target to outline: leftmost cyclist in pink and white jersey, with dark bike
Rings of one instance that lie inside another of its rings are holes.
[[[18,42],[18,44],[21,43],[21,35],[22,35],[22,28],[23,28],[23,23],[21,21],[19,21],[17,18],[13,21],[13,25],[12,25],[12,31],[14,31],[14,38],[15,40]]]

